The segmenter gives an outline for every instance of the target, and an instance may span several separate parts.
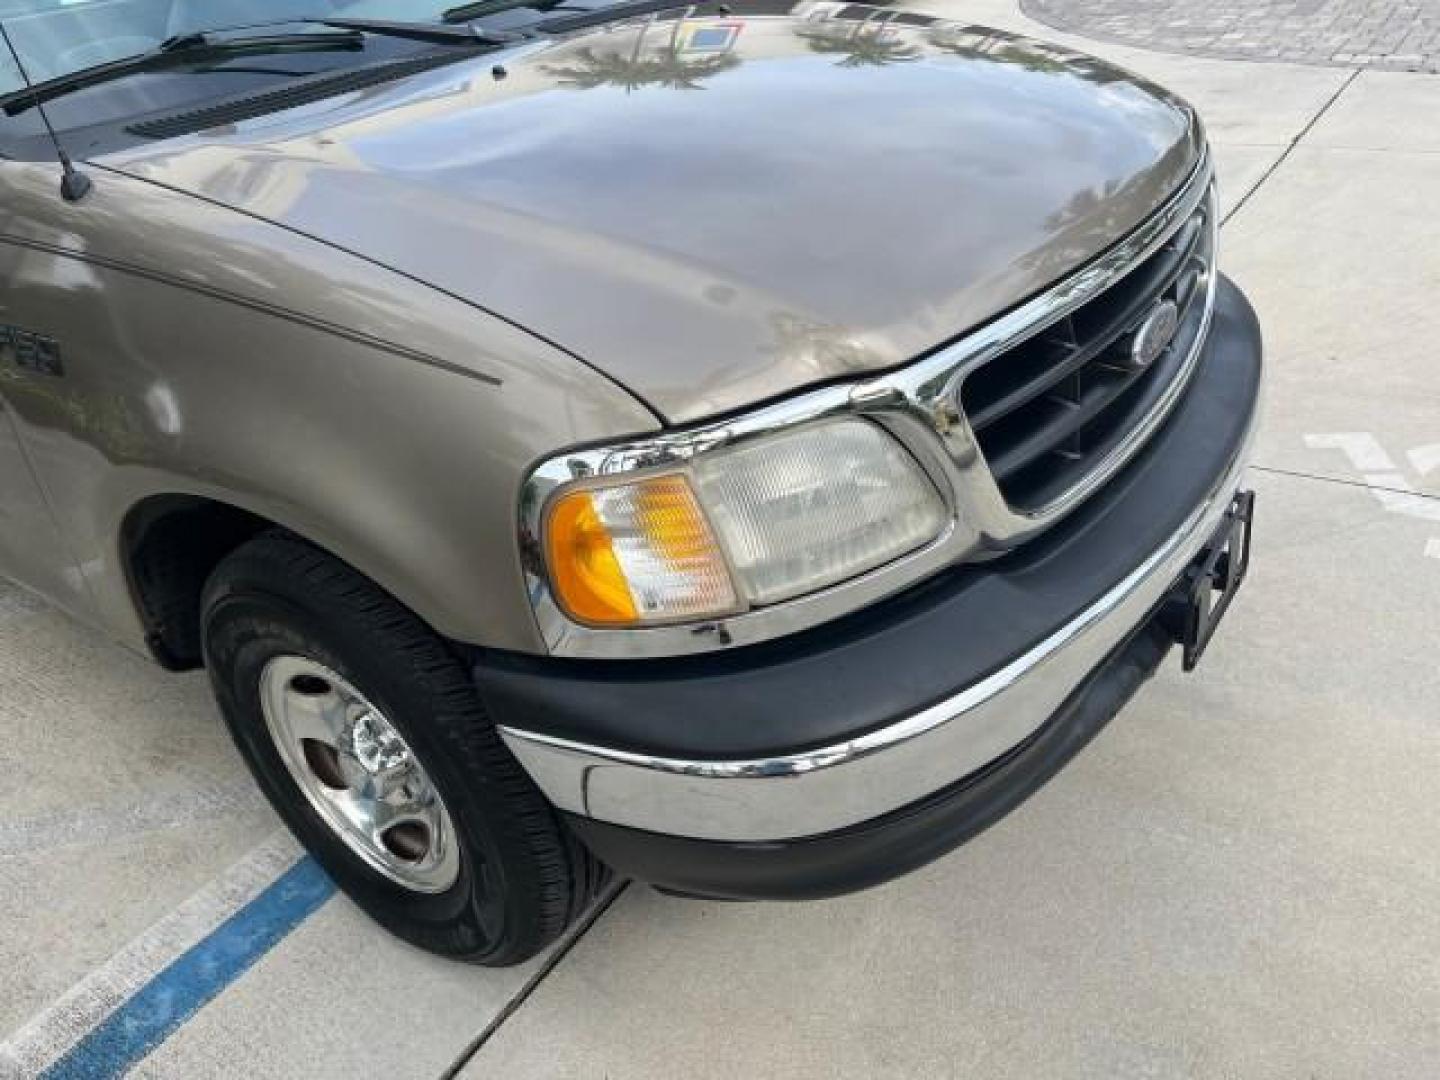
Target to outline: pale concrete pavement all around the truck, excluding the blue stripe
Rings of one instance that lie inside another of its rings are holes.
[[[914,6],[1057,36],[1009,0]],[[855,897],[632,886],[511,972],[333,899],[138,1074],[1440,1074],[1440,79],[1063,39],[1200,107],[1267,333],[1254,576],[1201,670]],[[276,822],[202,678],[3,586],[0,685],[3,1043]]]

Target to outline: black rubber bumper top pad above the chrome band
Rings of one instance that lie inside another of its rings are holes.
[[[1136,456],[1061,526],[814,631],[675,660],[481,652],[501,724],[667,757],[827,746],[945,700],[1054,634],[1159,547],[1230,469],[1256,409],[1260,328],[1227,281],[1191,386]]]

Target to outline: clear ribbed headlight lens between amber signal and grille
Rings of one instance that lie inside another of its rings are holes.
[[[752,603],[873,570],[933,540],[948,520],[914,459],[865,420],[707,455],[696,481]]]

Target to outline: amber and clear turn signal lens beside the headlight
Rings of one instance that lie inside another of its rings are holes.
[[[734,611],[736,589],[684,477],[572,491],[546,520],[560,605],[580,622],[625,626]]]

